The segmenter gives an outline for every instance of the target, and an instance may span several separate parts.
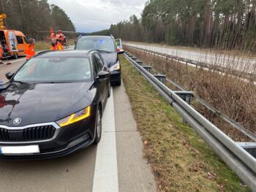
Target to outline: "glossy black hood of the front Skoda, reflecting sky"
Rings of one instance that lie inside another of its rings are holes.
[[[21,119],[18,126],[65,118],[91,104],[94,98],[91,85],[92,82],[13,82],[7,89],[0,91],[0,125],[15,127],[15,118]]]

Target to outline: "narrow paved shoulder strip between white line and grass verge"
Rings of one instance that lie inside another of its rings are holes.
[[[157,191],[124,85],[113,88],[119,191]]]

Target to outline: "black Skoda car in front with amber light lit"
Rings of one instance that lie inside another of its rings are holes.
[[[110,74],[97,51],[40,53],[6,76],[0,158],[53,158],[99,143]]]

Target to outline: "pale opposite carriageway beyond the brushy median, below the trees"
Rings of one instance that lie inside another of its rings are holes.
[[[203,62],[206,64],[214,64],[230,69],[255,73],[256,58],[242,58],[238,55],[227,55],[225,53],[212,53],[200,50],[182,49],[177,47],[165,47],[161,45],[139,44],[133,42],[124,42],[124,45],[138,47],[145,50],[152,50],[167,55],[173,55],[180,58],[190,59],[192,61]]]

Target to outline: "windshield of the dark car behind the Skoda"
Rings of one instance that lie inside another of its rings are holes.
[[[115,44],[111,38],[80,38],[78,40],[77,50],[102,50],[109,53],[116,52]]]

